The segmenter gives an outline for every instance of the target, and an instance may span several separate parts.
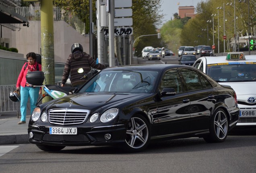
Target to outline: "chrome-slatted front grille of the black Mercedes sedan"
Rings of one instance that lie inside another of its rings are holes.
[[[89,110],[84,109],[51,109],[49,122],[58,125],[81,124],[86,121],[89,113]]]

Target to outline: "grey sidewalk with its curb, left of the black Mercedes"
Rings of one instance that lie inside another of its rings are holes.
[[[30,115],[26,117],[26,124],[18,125],[20,118],[0,117],[0,145],[29,143],[29,119]]]

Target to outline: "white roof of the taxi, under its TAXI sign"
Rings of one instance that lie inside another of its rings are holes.
[[[207,57],[200,57],[199,59],[205,59],[206,64],[216,64],[222,62],[237,62],[237,60],[226,60],[227,56],[207,56]],[[238,62],[256,62],[255,55],[245,55],[246,60],[239,60]]]

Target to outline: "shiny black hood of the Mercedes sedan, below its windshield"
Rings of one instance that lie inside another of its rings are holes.
[[[48,108],[73,108],[73,109],[97,109],[102,107],[116,107],[123,103],[128,103],[136,99],[141,99],[149,94],[88,94],[78,93],[75,95],[68,95],[51,102]]]

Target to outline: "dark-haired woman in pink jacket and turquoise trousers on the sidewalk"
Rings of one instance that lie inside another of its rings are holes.
[[[27,114],[27,102],[30,99],[30,112],[32,114],[33,110],[36,107],[38,95],[42,93],[40,87],[32,87],[26,80],[27,72],[42,70],[41,64],[36,62],[36,55],[34,52],[29,52],[27,55],[27,63],[21,68],[19,74],[16,88],[20,90],[21,94],[21,121],[18,124],[26,123],[26,114]]]

